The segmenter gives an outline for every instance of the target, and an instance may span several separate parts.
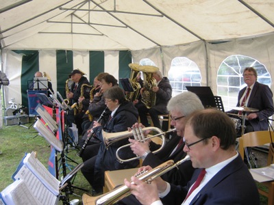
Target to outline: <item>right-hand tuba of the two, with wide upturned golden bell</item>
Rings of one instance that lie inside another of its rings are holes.
[[[157,81],[152,76],[154,72],[159,70],[159,68],[155,66],[140,66],[138,69],[144,74],[142,103],[145,104],[147,109],[150,109],[156,103],[156,93],[152,91],[152,87],[157,86]]]

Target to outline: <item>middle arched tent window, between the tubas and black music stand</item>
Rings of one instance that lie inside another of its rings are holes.
[[[186,86],[201,86],[201,72],[197,64],[187,57],[175,57],[171,61],[169,81],[173,96],[186,91]]]

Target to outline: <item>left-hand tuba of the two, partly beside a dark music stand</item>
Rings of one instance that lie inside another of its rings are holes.
[[[132,85],[133,92],[127,92],[125,98],[130,102],[134,100],[138,100],[140,95],[141,85],[137,82],[138,74],[140,74],[140,70],[138,70],[139,64],[129,64],[129,68],[132,69],[129,77],[129,83]]]

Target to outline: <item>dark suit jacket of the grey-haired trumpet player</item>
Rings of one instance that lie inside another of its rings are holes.
[[[170,159],[172,159],[175,163],[181,159],[184,159],[186,156],[186,153],[183,151],[184,143],[171,155],[171,152],[177,146],[180,139],[181,137],[173,135],[171,140],[166,143],[164,148],[162,148],[158,154],[153,154],[152,152],[147,154],[147,157],[143,161],[142,165],[150,165],[154,168]],[[153,143],[151,144],[151,150],[154,150]],[[194,168],[192,167],[191,161],[186,161],[179,165],[178,169],[171,169],[171,171],[162,175],[162,179],[175,185],[180,184],[185,186],[191,179],[193,172]]]

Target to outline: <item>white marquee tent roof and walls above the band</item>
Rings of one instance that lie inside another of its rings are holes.
[[[102,51],[104,71],[117,78],[119,51],[129,51],[135,63],[151,59],[164,75],[174,57],[185,56],[195,61],[201,84],[214,94],[219,66],[230,55],[253,57],[273,76],[273,0],[0,2],[1,70],[11,81],[6,100],[21,95],[23,54],[16,50],[38,51],[38,69],[48,72],[53,89],[58,87],[58,50],[73,51],[73,68],[88,76],[89,51]]]

